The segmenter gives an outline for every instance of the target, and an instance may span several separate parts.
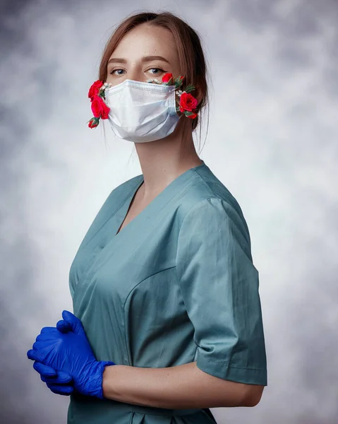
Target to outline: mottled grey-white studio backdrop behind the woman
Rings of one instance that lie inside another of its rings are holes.
[[[26,357],[72,310],[68,271],[133,143],[90,130],[104,42],[133,11],[198,30],[212,102],[200,157],[243,209],[260,271],[268,386],[219,424],[338,422],[337,0],[5,1],[0,6],[1,423],[66,423]]]

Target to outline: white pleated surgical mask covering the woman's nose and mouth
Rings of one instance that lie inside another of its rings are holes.
[[[179,121],[175,86],[126,79],[104,90],[109,123],[120,139],[145,143],[169,136]]]

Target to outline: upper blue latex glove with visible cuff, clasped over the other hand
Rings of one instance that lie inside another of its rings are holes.
[[[61,333],[55,327],[44,327],[27,356],[54,370],[71,375],[74,388],[80,393],[103,399],[104,367],[115,365],[115,363],[97,361],[80,319],[68,311],[62,312],[62,317],[76,332]],[[67,326],[61,323],[59,325]]]

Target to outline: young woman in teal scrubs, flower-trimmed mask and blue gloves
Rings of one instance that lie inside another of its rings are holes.
[[[113,189],[70,270],[74,314],[44,327],[28,358],[70,394],[68,424],[212,423],[267,385],[258,271],[241,208],[198,157],[207,105],[195,31],[138,13],[107,43],[88,93],[143,173]]]

